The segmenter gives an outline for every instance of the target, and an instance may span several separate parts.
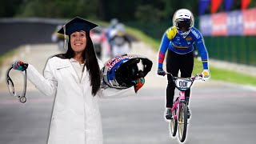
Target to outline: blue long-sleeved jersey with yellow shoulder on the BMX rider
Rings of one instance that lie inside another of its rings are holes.
[[[159,50],[158,67],[162,67],[167,49],[172,50],[177,54],[187,54],[194,50],[193,44],[198,46],[203,69],[208,70],[208,54],[206,46],[204,45],[202,34],[200,34],[200,32],[194,27],[191,28],[191,31],[186,38],[183,38],[182,35],[178,34],[178,30],[175,26],[166,30]]]

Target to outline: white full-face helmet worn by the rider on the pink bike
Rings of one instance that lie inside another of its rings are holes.
[[[190,10],[180,9],[174,14],[174,26],[184,38],[190,33],[191,27],[194,26],[194,16]]]

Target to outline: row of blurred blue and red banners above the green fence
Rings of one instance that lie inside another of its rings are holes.
[[[202,35],[256,35],[256,8],[199,17]]]

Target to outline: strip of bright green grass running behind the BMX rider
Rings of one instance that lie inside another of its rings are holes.
[[[138,38],[142,42],[146,42],[150,46],[153,46],[155,51],[158,51],[160,46],[160,41],[150,38],[146,34],[143,34],[141,31],[138,31],[130,27],[126,28],[126,30],[128,33],[133,34],[134,36],[136,36],[136,38]],[[193,74],[198,74],[198,73],[202,73],[202,62],[199,61],[198,59],[194,59]],[[237,73],[232,70],[220,69],[214,66],[210,66],[210,79],[224,81],[224,82],[232,82],[232,83],[237,83],[242,85],[256,86],[256,77]]]

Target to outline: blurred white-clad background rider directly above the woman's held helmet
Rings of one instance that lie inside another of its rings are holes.
[[[126,35],[125,26],[118,23],[110,33],[111,54],[113,57],[127,54],[131,48],[130,39]]]

